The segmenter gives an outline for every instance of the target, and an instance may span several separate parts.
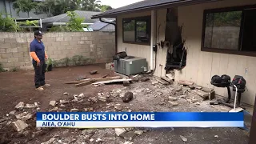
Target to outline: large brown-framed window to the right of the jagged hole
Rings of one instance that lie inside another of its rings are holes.
[[[205,10],[202,50],[256,56],[256,6]]]

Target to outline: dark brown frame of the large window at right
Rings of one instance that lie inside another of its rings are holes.
[[[222,54],[236,54],[236,55],[245,55],[245,56],[256,57],[256,51],[242,50],[242,36],[243,36],[242,33],[243,33],[243,29],[244,29],[244,10],[252,9],[252,8],[256,9],[256,5],[233,6],[233,7],[225,7],[225,8],[204,10],[203,11],[203,19],[202,19],[201,51],[222,53]],[[239,39],[238,39],[238,50],[226,50],[226,49],[204,47],[205,32],[206,32],[206,14],[220,13],[220,12],[230,12],[230,11],[238,11],[238,10],[242,11],[241,26],[240,26],[240,33],[239,33]]]

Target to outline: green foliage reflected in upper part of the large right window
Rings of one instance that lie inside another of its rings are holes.
[[[210,13],[206,16],[206,26],[240,26],[242,11]]]

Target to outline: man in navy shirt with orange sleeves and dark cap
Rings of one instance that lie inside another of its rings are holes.
[[[30,55],[33,58],[34,66],[34,85],[36,90],[42,91],[43,87],[50,86],[45,82],[46,60],[48,58],[45,46],[42,42],[42,32],[34,31],[34,40],[30,43]]]

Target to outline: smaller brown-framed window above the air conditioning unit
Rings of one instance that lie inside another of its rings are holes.
[[[150,44],[150,17],[124,18],[122,30],[123,42]]]

